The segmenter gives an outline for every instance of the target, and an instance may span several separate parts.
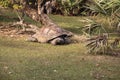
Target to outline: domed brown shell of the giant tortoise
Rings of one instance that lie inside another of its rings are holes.
[[[43,26],[32,37],[36,38],[38,42],[46,43],[57,37],[71,37],[73,34],[57,25]]]

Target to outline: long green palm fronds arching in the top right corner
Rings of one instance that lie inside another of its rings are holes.
[[[92,4],[87,3],[86,8],[104,14],[113,15],[120,9],[120,0],[92,0]]]

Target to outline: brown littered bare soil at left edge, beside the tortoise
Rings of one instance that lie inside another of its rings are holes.
[[[31,36],[31,33],[22,32],[21,29],[16,27],[0,26],[0,36],[10,37],[19,40],[19,39],[27,39],[27,37]]]

